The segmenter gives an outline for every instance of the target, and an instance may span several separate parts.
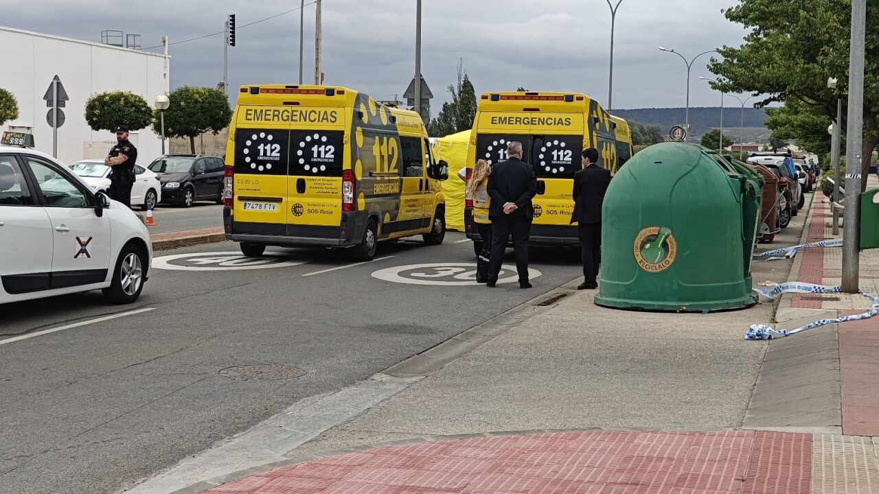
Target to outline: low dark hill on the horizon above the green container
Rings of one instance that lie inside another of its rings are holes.
[[[658,125],[663,133],[676,126],[683,125],[686,109],[681,108],[634,108],[630,110],[614,110],[614,115],[626,120],[635,120],[643,125]],[[730,137],[738,142],[739,125],[741,123],[741,107],[723,108],[723,128],[730,129]],[[766,111],[762,108],[745,108],[745,142],[768,142],[771,132],[766,128]],[[699,106],[690,108],[690,129],[694,139],[701,138],[713,128],[720,127],[719,106]]]

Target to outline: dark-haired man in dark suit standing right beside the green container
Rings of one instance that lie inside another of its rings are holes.
[[[574,213],[571,214],[570,222],[578,222],[585,279],[577,287],[578,290],[599,287],[597,278],[601,264],[601,205],[607,193],[607,185],[610,185],[610,171],[601,168],[598,161],[598,149],[584,149],[583,170],[574,174]]]

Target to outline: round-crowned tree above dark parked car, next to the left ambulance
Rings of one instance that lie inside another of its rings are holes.
[[[232,108],[222,91],[196,86],[183,86],[168,95],[171,105],[165,110],[165,135],[188,137],[189,146],[195,153],[195,138],[206,132],[218,134],[229,127]],[[156,110],[153,132],[161,134],[159,112]]]

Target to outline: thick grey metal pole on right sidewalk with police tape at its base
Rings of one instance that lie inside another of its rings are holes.
[[[861,222],[861,146],[864,127],[864,35],[867,0],[852,0],[852,39],[848,62],[848,126],[846,127],[846,221],[842,222],[842,290],[856,294]]]

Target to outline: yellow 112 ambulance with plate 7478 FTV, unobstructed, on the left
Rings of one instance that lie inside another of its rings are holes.
[[[243,86],[226,152],[226,238],[247,256],[267,245],[347,248],[446,234],[440,181],[417,113],[342,87]]]

